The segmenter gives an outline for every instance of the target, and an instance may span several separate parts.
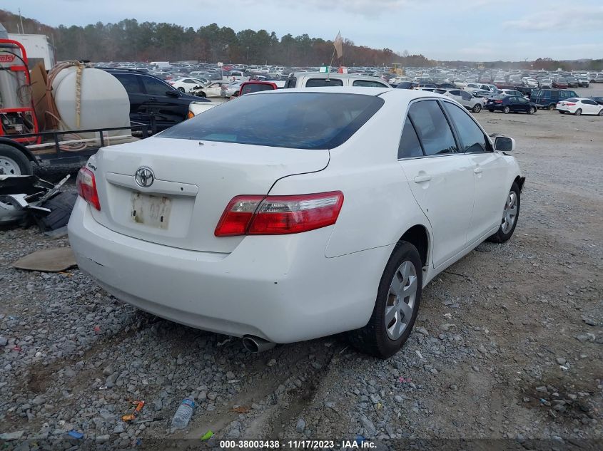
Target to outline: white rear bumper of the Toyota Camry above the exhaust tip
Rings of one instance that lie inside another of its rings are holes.
[[[69,221],[79,268],[121,301],[187,326],[275,343],[352,330],[370,318],[393,245],[326,258],[330,232],[245,237],[220,254],[113,232],[83,199]]]

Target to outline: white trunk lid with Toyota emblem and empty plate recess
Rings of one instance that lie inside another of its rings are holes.
[[[228,253],[243,237],[217,238],[214,230],[230,199],[267,195],[281,177],[320,171],[328,162],[328,150],[171,138],[103,147],[88,163],[101,202],[93,217],[147,242]],[[140,186],[151,172],[151,185]]]

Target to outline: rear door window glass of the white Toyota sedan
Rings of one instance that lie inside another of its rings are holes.
[[[457,152],[457,143],[440,105],[435,100],[413,103],[408,115],[415,124],[425,155]]]

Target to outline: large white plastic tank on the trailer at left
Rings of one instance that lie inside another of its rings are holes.
[[[91,128],[128,127],[130,100],[126,88],[110,73],[95,68],[81,72],[79,125],[77,121],[77,68],[63,69],[52,83],[56,109],[61,115],[61,130],[88,130]],[[81,138],[98,138],[98,133],[80,133]],[[113,130],[106,136],[131,135],[131,131]]]

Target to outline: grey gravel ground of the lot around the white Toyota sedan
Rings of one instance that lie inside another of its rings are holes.
[[[235,338],[122,304],[77,269],[14,269],[69,240],[0,231],[0,434],[11,434],[0,442],[163,450],[362,435],[381,449],[602,449],[603,118],[476,117],[517,140],[527,182],[515,236],[432,281],[387,361],[338,336],[252,355]],[[191,425],[171,433],[187,396],[198,405]],[[146,401],[142,420],[161,420],[123,423],[128,400]]]

